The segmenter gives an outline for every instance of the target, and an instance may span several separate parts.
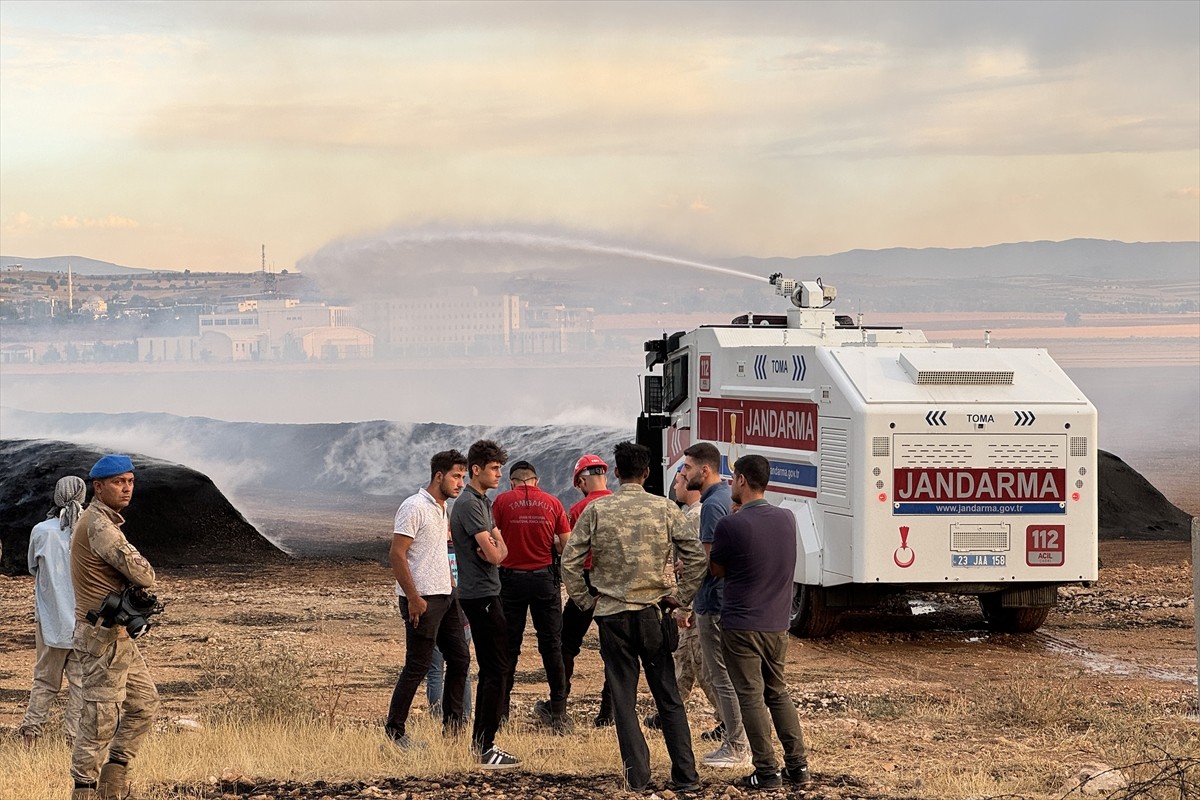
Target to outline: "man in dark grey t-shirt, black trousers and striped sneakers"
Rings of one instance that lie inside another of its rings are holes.
[[[472,742],[479,763],[488,769],[516,766],[521,759],[496,746],[500,728],[504,674],[508,672],[508,624],[500,604],[498,566],[508,554],[500,529],[492,521],[488,489],[500,485],[508,453],[481,439],[467,451],[470,483],[450,510],[450,536],[458,560],[458,601],[470,624],[479,663]]]

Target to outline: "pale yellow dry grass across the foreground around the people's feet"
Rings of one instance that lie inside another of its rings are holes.
[[[280,663],[280,651],[265,652]],[[293,667],[274,674],[288,682],[290,693],[313,697],[322,675],[312,673],[308,684],[292,684]],[[1074,766],[1092,760],[1121,768],[1138,787],[1136,794],[1115,798],[1189,796],[1181,794],[1180,781],[1184,792],[1200,790],[1200,728],[1184,714],[1183,697],[1172,709],[1080,688],[1078,680],[1061,675],[1019,674],[1009,684],[997,684],[985,698],[851,697],[848,715],[847,709],[806,714],[803,724],[818,781],[851,781],[862,792],[858,796],[1058,800]],[[276,686],[265,696],[282,703],[280,709],[299,708],[299,700],[284,698],[284,690]],[[420,712],[410,730],[426,746],[400,752],[373,726],[330,724],[322,714],[284,721],[274,712],[235,718],[220,711],[199,730],[175,728],[151,735],[134,763],[134,782],[146,798],[157,800],[179,796],[164,787],[211,784],[222,776],[340,782],[474,769],[466,736],[443,739],[440,724]],[[665,764],[661,738],[652,734],[648,740],[653,762]],[[518,752],[532,774],[619,771],[611,729],[581,727],[575,735],[558,738],[514,723],[502,732],[500,742]],[[697,739],[697,753],[704,748]],[[4,741],[0,798],[65,796],[68,762],[61,742],[26,751],[13,740]],[[728,778],[727,772],[702,772],[708,781]],[[1162,777],[1165,772],[1170,775]]]

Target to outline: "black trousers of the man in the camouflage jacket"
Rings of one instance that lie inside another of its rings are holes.
[[[650,782],[650,748],[637,718],[637,678],[644,669],[646,684],[662,723],[662,739],[671,756],[671,780],[696,783],[696,756],[691,750],[688,714],[679,699],[674,680],[674,649],[678,642],[667,630],[676,626],[671,615],[656,606],[641,610],[596,616],[600,625],[600,657],[605,680],[612,690],[612,710],[617,721],[617,745],[625,781],[631,790],[644,789]]]

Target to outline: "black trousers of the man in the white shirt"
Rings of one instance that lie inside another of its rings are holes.
[[[442,724],[456,728],[462,724],[462,690],[467,684],[470,650],[462,632],[462,614],[455,595],[424,596],[428,608],[421,614],[416,627],[408,616],[408,599],[400,597],[400,615],[404,619],[404,668],[396,679],[388,705],[388,735],[404,735],[408,712],[413,706],[416,688],[425,680],[425,673],[433,662],[433,646],[445,656],[445,692],[442,704]]]

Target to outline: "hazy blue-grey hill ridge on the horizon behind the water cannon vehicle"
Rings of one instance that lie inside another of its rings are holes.
[[[1070,275],[1090,279],[1196,281],[1200,242],[1070,239],[960,249],[892,247],[799,258],[742,257],[722,264],[760,275],[782,272],[797,278],[822,275],[830,279],[838,275],[911,278]]]

